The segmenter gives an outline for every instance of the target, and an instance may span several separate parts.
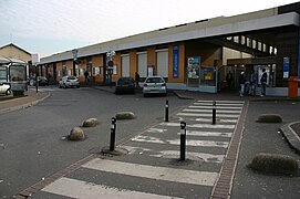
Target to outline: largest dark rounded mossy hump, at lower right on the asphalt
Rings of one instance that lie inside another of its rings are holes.
[[[298,163],[294,158],[278,154],[258,154],[249,168],[263,174],[299,176]]]

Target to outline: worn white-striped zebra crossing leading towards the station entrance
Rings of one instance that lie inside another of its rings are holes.
[[[42,189],[70,198],[209,198],[244,102],[197,101],[170,122],[146,129],[120,146],[128,154],[99,157]],[[179,161],[180,122],[186,126],[186,157]]]

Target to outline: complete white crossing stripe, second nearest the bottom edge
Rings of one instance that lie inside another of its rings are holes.
[[[218,177],[218,172],[155,167],[100,158],[95,158],[82,167],[127,176],[201,186],[214,186]]]

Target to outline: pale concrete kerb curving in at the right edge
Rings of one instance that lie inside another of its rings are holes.
[[[280,128],[281,134],[286,137],[286,139],[288,140],[289,145],[297,150],[297,153],[300,153],[300,137],[296,134],[296,132],[293,132],[293,129],[291,128],[291,125],[299,123],[299,122],[294,122],[294,123],[290,123],[287,125],[283,125]]]

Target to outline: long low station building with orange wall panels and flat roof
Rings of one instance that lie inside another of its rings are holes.
[[[300,73],[299,13],[298,2],[199,20],[80,48],[76,57],[72,51],[58,53],[41,59],[40,66],[55,81],[76,74],[84,82],[87,71],[101,84],[138,72],[142,78],[161,75],[169,87],[204,92],[223,87],[228,71],[237,78],[240,71],[268,69],[269,86],[287,87],[288,77]],[[115,55],[108,66],[111,51]]]

